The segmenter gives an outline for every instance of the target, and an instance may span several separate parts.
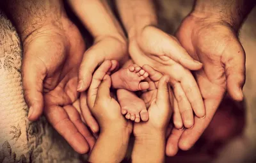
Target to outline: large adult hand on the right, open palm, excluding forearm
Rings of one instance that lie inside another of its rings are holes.
[[[178,141],[182,150],[193,146],[209,125],[226,90],[234,100],[243,100],[245,77],[244,49],[229,24],[191,14],[182,22],[177,38],[194,59],[204,64],[195,77],[204,98],[206,117],[195,117],[195,126],[184,132],[174,129],[168,139],[167,155],[177,153]]]

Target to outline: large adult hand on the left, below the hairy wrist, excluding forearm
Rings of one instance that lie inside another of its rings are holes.
[[[24,39],[22,82],[29,120],[44,114],[52,126],[79,153],[94,139],[73,104],[77,102],[77,74],[84,40],[67,18],[35,29]]]

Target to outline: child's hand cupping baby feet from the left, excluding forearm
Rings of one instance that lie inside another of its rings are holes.
[[[120,105],[111,97],[111,61],[104,61],[95,71],[92,84],[88,89],[88,106],[99,123],[101,132],[105,130],[125,130],[131,132],[131,122],[125,120],[121,114]]]

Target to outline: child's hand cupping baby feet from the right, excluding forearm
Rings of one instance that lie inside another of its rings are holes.
[[[143,66],[143,68],[147,66]],[[150,73],[150,72],[149,72]],[[160,74],[160,73],[159,73]],[[134,136],[140,137],[151,134],[163,134],[172,116],[172,93],[168,86],[170,77],[168,75],[149,74],[147,81],[150,83],[148,91],[141,95],[148,107],[148,121],[134,124]]]

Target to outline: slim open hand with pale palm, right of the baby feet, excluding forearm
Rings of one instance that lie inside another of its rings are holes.
[[[205,116],[205,108],[196,81],[186,68],[198,70],[202,64],[193,60],[175,37],[153,26],[143,28],[140,33],[131,36],[129,42],[129,53],[136,64],[150,65],[170,76],[175,95],[175,127],[193,127],[193,111],[201,118]]]

